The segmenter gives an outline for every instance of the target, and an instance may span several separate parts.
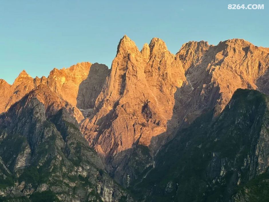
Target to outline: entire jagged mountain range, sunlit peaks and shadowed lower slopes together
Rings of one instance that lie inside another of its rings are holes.
[[[269,48],[126,35],[109,69],[0,79],[0,201],[268,201]]]

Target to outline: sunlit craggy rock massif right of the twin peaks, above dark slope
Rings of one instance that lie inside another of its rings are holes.
[[[183,44],[177,55],[187,78],[179,90],[183,125],[208,109],[215,108],[215,115],[219,114],[238,88],[257,89],[257,80],[269,64],[269,48],[242,39],[227,40],[217,46],[189,42]]]

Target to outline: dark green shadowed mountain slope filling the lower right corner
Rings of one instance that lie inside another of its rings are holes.
[[[238,89],[214,111],[180,130],[134,186],[138,201],[266,201],[269,180],[269,97]]]

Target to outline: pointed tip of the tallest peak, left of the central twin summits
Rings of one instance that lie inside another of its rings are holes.
[[[139,50],[134,41],[132,41],[127,35],[124,35],[118,44],[117,55],[124,54],[126,52],[137,53]]]

